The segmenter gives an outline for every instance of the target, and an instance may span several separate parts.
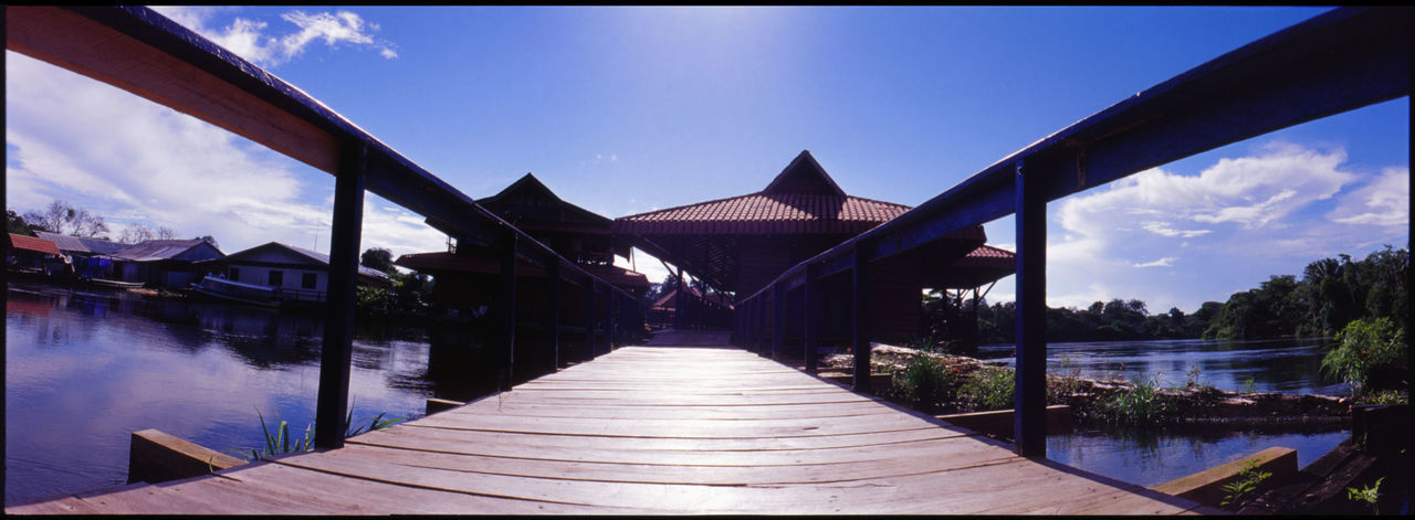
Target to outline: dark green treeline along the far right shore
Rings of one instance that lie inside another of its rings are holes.
[[[1408,246],[1407,246],[1408,247]],[[1143,301],[1111,300],[1091,307],[1047,308],[1047,341],[1269,339],[1332,336],[1358,318],[1391,318],[1405,328],[1409,250],[1391,249],[1353,261],[1348,254],[1307,264],[1302,280],[1272,276],[1227,302],[1206,301],[1150,315]],[[978,305],[978,341],[1013,341],[1013,302]]]

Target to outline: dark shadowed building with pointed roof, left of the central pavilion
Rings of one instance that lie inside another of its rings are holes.
[[[574,261],[584,271],[642,298],[648,291],[648,278],[640,273],[614,266],[614,256],[630,256],[630,246],[610,235],[613,220],[562,201],[535,175],[526,174],[499,194],[477,201],[507,222],[531,235],[565,259]],[[443,229],[436,220],[429,225]],[[497,277],[501,263],[491,247],[474,242],[484,237],[457,237],[447,252],[403,254],[395,264],[432,274],[436,280],[430,297],[436,312],[468,317],[494,304]],[[524,294],[531,298],[525,305],[516,305],[518,312],[528,317],[548,302],[543,290],[546,270],[528,261],[516,267],[519,277],[528,284]],[[518,291],[518,294],[522,291]],[[536,300],[541,298],[541,300]],[[584,294],[579,287],[566,284],[562,292],[565,321],[579,324],[583,319]]]

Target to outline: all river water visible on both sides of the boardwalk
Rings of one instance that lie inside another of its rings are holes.
[[[259,410],[303,431],[314,417],[321,333],[314,314],[11,283],[6,504],[122,485],[129,434],[139,430],[249,451],[263,439]],[[478,352],[470,335],[453,329],[361,324],[350,386],[354,417],[416,418],[429,397],[488,393],[494,380],[478,372],[487,365]],[[982,352],[1006,356],[1010,346]],[[1197,365],[1200,380],[1220,389],[1343,391],[1316,374],[1322,348],[1310,342],[1056,343],[1049,352],[1054,370],[1082,376],[1160,370],[1183,382]],[[1049,437],[1047,451],[1054,461],[1150,486],[1272,445],[1298,449],[1306,465],[1347,435],[1077,431]]]

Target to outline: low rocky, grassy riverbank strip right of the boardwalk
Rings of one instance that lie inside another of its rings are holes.
[[[1012,369],[999,362],[940,352],[876,345],[873,373],[890,374],[882,397],[911,408],[952,414],[1010,407]],[[853,356],[829,355],[822,373],[850,373]],[[930,376],[928,373],[934,373]],[[1068,404],[1078,424],[1136,422],[1184,430],[1187,427],[1272,428],[1350,424],[1351,398],[1322,394],[1228,391],[1204,384],[1197,374],[1184,383],[1163,386],[1156,379],[1085,379],[1077,373],[1047,374],[1047,404]]]

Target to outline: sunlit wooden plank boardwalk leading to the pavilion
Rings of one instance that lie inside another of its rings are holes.
[[[508,393],[351,438],[342,449],[6,513],[1208,512],[1020,458],[1003,442],[750,352],[664,343],[620,348]]]

